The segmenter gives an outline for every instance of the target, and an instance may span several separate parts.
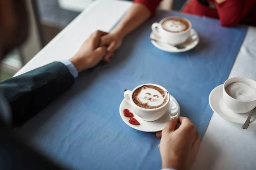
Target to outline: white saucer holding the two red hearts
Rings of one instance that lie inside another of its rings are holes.
[[[122,100],[119,107],[121,118],[128,126],[143,132],[158,132],[160,130],[163,130],[166,123],[170,119],[172,119],[173,117],[180,116],[180,105],[172,95],[170,95],[169,110],[163,115],[163,117],[153,122],[147,122],[134,113],[134,118],[137,119],[138,122],[140,122],[140,125],[132,125],[129,123],[130,118],[124,116],[124,109],[128,109],[131,113],[134,113],[134,111],[131,108],[131,105],[128,102],[126,102],[125,99]]]

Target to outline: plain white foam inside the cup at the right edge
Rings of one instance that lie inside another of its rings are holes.
[[[233,82],[225,88],[225,91],[230,97],[241,102],[256,100],[256,88],[244,82]]]

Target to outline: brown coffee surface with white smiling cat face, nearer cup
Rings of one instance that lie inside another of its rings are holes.
[[[132,99],[134,103],[145,109],[160,108],[168,99],[168,92],[154,85],[143,85],[134,91]]]

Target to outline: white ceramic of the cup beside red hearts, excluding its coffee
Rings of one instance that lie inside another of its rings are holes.
[[[154,109],[141,108],[140,106],[136,105],[132,99],[132,96],[134,94],[134,91],[136,91],[137,88],[140,88],[143,85],[137,86],[136,88],[134,88],[133,91],[129,91],[129,90],[125,91],[124,97],[125,97],[125,100],[131,105],[135,114],[137,114],[141,119],[151,122],[151,121],[160,119],[166,113],[166,111],[169,108],[170,95],[168,91],[160,85],[156,85],[156,84],[144,84],[144,85],[154,85],[166,91],[167,92],[166,103],[163,106],[159,108],[154,108]]]

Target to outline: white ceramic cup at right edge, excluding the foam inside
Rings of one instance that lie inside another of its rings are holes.
[[[244,82],[247,85],[250,85],[256,88],[256,82],[253,79],[249,79],[247,77],[233,77],[233,78],[227,79],[227,81],[224,82],[224,85],[223,85],[223,99],[227,108],[230,111],[235,113],[247,113],[253,110],[253,108],[256,107],[256,100],[253,100],[250,102],[243,102],[243,101],[236,100],[227,94],[225,88],[233,82]]]

